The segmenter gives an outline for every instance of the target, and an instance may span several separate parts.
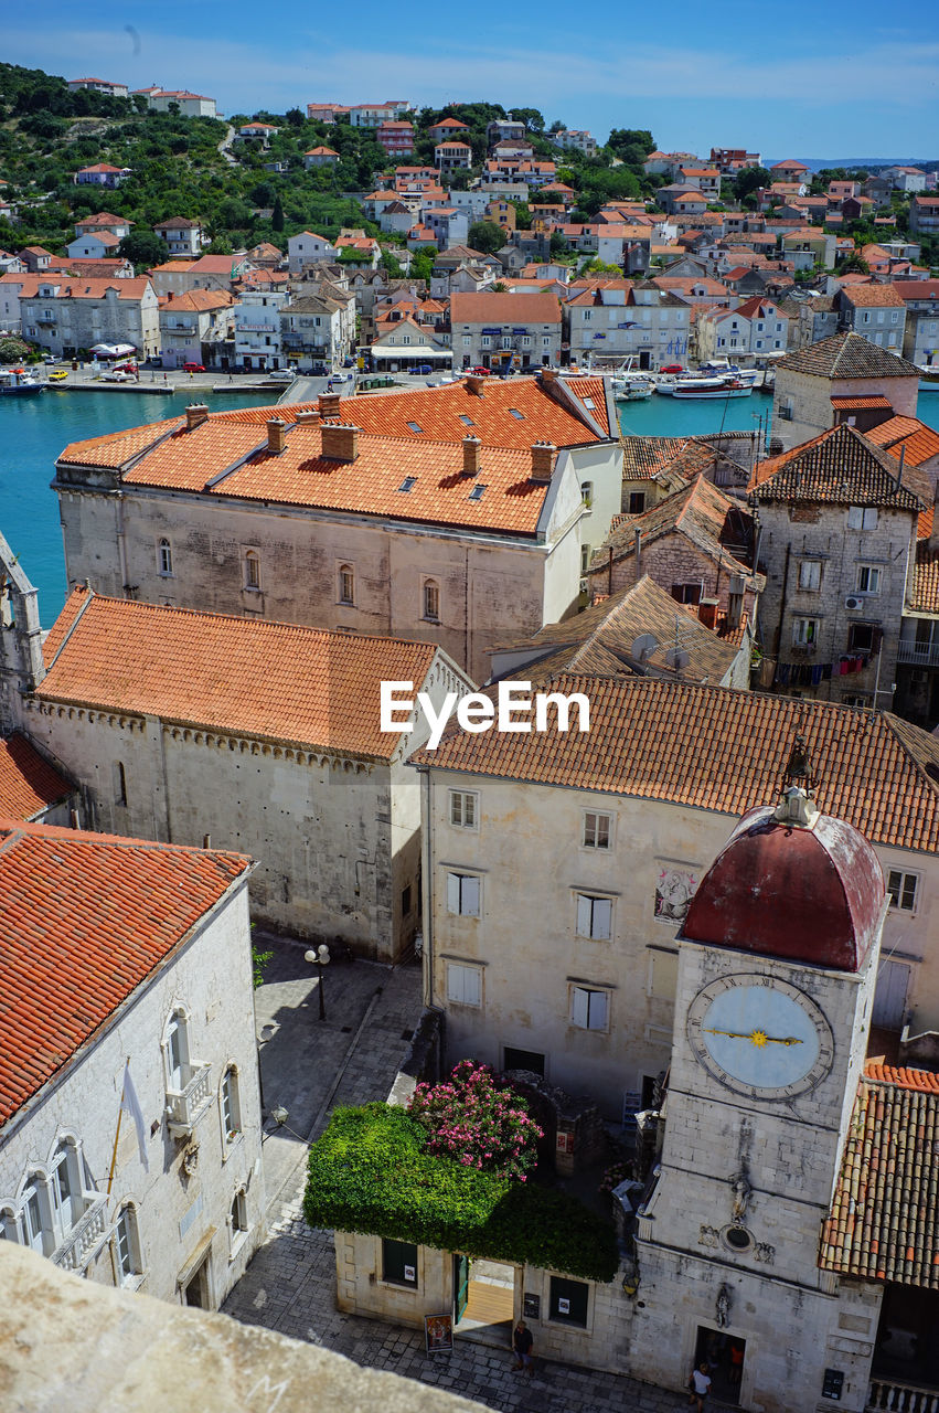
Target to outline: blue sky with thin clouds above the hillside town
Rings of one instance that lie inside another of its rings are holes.
[[[602,141],[610,127],[648,127],[666,150],[939,155],[939,7],[929,4],[898,24],[874,0],[288,0],[270,10],[250,0],[126,0],[113,20],[107,11],[45,0],[30,24],[20,7],[0,57],[65,78],[192,88],[226,113],[313,99],[487,99],[538,107]]]

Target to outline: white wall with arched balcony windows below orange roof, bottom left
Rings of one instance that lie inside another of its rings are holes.
[[[167,1126],[165,1027],[175,1007],[189,1016],[189,1056],[212,1067],[210,1102],[195,1123],[198,1161],[184,1171],[185,1140]],[[193,1266],[209,1256],[209,1303],[216,1308],[244,1272],[264,1234],[261,1113],[254,1039],[247,887],[239,885],[198,924],[195,935],[165,962],[136,998],[119,1007],[78,1063],[49,1084],[0,1136],[0,1207],[16,1205],[34,1166],[48,1161],[62,1137],[80,1143],[86,1174],[99,1194],[107,1176],[117,1129],[124,1063],[145,1123],[150,1171],[140,1160],[133,1119],[123,1116],[114,1183],[107,1201],[109,1226],[133,1202],[143,1256],[143,1279],[131,1284],[162,1300],[181,1301]],[[227,1143],[222,1133],[219,1088],[226,1068],[239,1072],[241,1132]],[[249,1229],[232,1234],[232,1202],[244,1191]],[[88,1276],[116,1284],[110,1243]]]

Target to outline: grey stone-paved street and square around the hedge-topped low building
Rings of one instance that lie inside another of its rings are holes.
[[[504,1413],[674,1413],[685,1407],[683,1395],[568,1365],[539,1362],[530,1379],[511,1371],[508,1351],[465,1340],[456,1341],[453,1354],[429,1358],[422,1334],[336,1311],[332,1236],[311,1232],[299,1207],[305,1140],[322,1132],[333,1104],[387,1096],[405,1036],[419,1015],[421,972],[414,965],[330,962],[323,1022],[316,968],[304,961],[305,945],[257,933],[254,941],[275,952],[256,993],[264,1099],[268,1112],[282,1105],[288,1118],[280,1129],[271,1119],[265,1126],[270,1235],[225,1313]]]

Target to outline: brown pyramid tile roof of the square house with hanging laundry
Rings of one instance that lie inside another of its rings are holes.
[[[842,422],[755,468],[750,490],[760,502],[811,502],[836,506],[923,509],[923,500],[897,485],[897,462],[854,427]]]

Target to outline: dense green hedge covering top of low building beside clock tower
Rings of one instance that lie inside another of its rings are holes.
[[[580,1280],[613,1279],[618,1258],[610,1222],[566,1193],[433,1157],[425,1140],[404,1109],[335,1109],[309,1150],[306,1222],[527,1262]]]

